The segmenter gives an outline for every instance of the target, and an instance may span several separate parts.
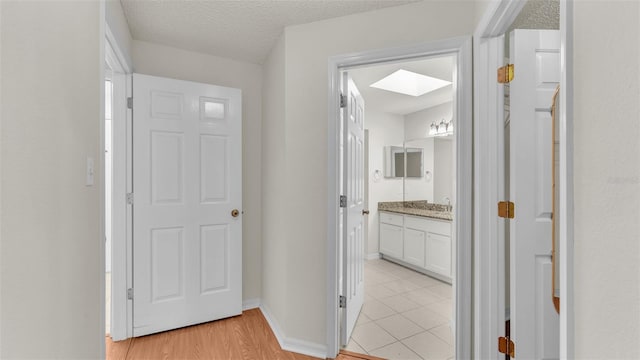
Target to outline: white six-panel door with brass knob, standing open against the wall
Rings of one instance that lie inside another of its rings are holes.
[[[133,89],[133,335],[238,315],[241,92],[139,74]]]

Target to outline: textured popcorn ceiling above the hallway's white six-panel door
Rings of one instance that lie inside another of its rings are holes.
[[[121,0],[131,36],[261,64],[284,27],[418,0]]]

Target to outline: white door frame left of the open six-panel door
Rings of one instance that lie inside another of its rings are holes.
[[[131,96],[131,65],[108,24],[105,36],[105,60],[113,73],[111,338],[119,341],[133,336],[132,303],[127,300],[127,289],[131,287],[133,276],[132,209],[126,201],[126,194],[132,189],[131,111],[127,109],[127,97]],[[103,311],[104,306],[103,303]]]

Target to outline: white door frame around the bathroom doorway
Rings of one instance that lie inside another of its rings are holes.
[[[339,136],[340,136],[340,71],[354,66],[371,65],[387,61],[408,60],[435,55],[457,55],[454,69],[454,99],[456,117],[456,206],[454,231],[457,251],[454,278],[456,345],[459,359],[471,358],[471,296],[472,296],[472,109],[471,109],[471,38],[458,37],[424,44],[359,52],[334,56],[329,59],[328,94],[328,224],[327,224],[327,356],[333,358],[339,351]]]

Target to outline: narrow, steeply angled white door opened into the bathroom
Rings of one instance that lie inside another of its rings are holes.
[[[349,342],[364,302],[364,100],[348,73],[343,74],[345,107],[343,189],[346,196],[342,236],[342,344]]]

